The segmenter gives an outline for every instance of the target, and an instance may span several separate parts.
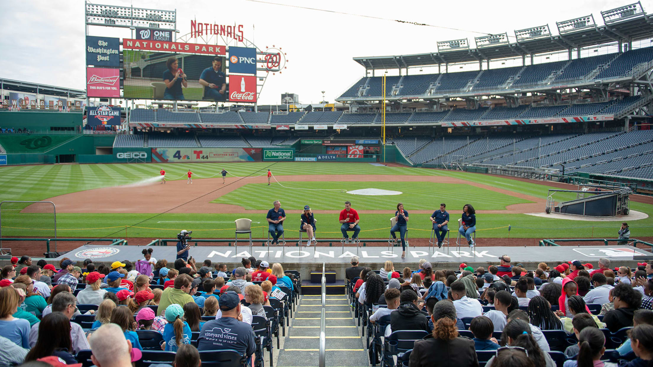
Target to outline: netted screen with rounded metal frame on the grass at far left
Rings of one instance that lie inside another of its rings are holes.
[[[57,211],[52,201],[0,202],[0,255],[11,255],[18,247],[21,255],[41,257],[49,251],[46,240],[54,239],[57,251]]]

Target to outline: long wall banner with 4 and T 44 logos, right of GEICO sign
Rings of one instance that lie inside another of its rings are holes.
[[[257,161],[261,148],[152,148],[153,163]]]

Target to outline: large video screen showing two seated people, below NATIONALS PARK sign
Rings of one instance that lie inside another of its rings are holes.
[[[214,97],[219,101],[226,101],[225,65],[223,61],[216,61],[218,72],[215,72],[214,58],[215,56],[206,55],[124,50],[123,95],[133,99],[202,101],[206,94],[204,90],[209,90],[200,84],[200,78],[204,75],[207,82],[215,84],[215,88],[210,89],[212,93],[218,92],[214,93]],[[175,78],[173,86],[167,88],[165,81],[170,82]],[[223,86],[225,90],[219,93]]]

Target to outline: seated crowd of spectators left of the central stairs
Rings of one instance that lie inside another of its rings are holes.
[[[151,248],[142,254],[134,263],[110,266],[95,266],[90,259],[76,266],[68,258],[33,264],[29,256],[13,257],[0,279],[0,366],[48,362],[53,356],[76,364],[84,349],[93,351],[96,366],[121,366],[107,360],[106,348],[117,356],[127,353],[125,366],[131,365],[142,349],[138,330],[159,332],[161,350],[178,356],[233,349],[253,358],[253,318],[267,319],[264,306],[296,286],[281,264],[254,257],[228,270],[210,260],[197,266],[192,257],[168,267]],[[92,325],[82,328],[74,320],[78,315],[88,315]],[[193,332],[199,332],[193,340],[197,348],[190,345]]]

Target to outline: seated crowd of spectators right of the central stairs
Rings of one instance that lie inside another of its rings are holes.
[[[526,270],[508,255],[498,260],[487,270],[465,263],[458,271],[434,270],[424,259],[416,270],[395,270],[392,261],[375,270],[353,257],[345,276],[352,305],[371,325],[383,321],[379,332],[386,338],[398,330],[428,333],[414,343],[411,367],[478,366],[476,352],[488,350],[497,352],[485,366],[554,367],[547,330],[578,341],[565,349],[565,367],[612,367],[601,360],[604,330],[628,328],[628,339],[616,349],[620,367],[653,366],[653,261],[612,268],[601,258],[596,268],[573,260]],[[460,336],[467,329],[473,338]],[[380,362],[381,345],[376,354],[373,346],[370,362]]]

